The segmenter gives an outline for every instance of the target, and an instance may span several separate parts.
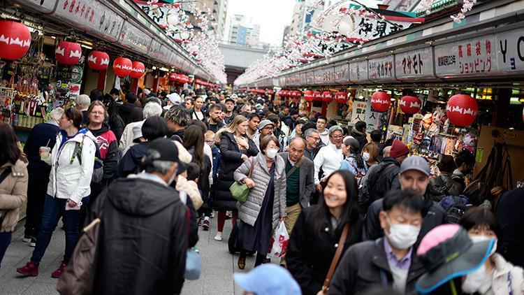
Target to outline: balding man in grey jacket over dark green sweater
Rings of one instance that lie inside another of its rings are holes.
[[[304,156],[306,143],[303,138],[293,138],[288,152],[279,155],[286,163],[286,230],[291,236],[293,226],[298,220],[302,208],[310,206],[314,188],[313,161]],[[285,265],[284,258],[280,261]]]

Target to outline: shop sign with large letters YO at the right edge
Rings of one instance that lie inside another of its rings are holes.
[[[500,73],[524,72],[524,29],[514,29],[497,36],[497,64]]]

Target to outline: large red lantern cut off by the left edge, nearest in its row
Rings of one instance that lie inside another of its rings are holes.
[[[0,21],[0,57],[15,60],[23,57],[31,45],[31,33],[25,24]]]

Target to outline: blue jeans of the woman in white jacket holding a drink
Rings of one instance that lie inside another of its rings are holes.
[[[36,237],[36,247],[34,248],[33,256],[31,257],[31,261],[33,261],[34,264],[40,264],[60,217],[62,217],[64,230],[66,231],[66,251],[64,252],[64,259],[62,262],[67,264],[69,259],[71,259],[78,238],[80,238],[80,232],[78,230],[78,224],[80,223],[80,210],[66,210],[66,203],[67,199],[53,198],[50,195],[45,196],[42,222],[40,230],[38,231],[38,236]],[[87,206],[88,203],[89,196],[86,196],[82,199],[82,207]]]

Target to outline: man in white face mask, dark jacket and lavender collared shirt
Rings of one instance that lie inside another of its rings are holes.
[[[388,192],[380,213],[386,236],[351,246],[337,266],[328,294],[356,294],[376,285],[391,286],[401,294],[414,292],[425,268],[413,245],[427,212],[419,194]]]

